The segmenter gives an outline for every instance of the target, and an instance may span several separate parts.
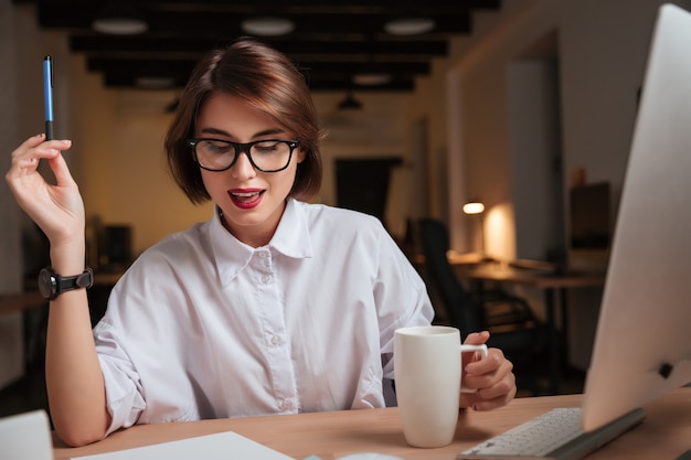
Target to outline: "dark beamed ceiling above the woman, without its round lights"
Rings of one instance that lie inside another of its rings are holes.
[[[181,87],[209,51],[245,33],[253,14],[287,17],[296,30],[261,38],[285,53],[305,74],[311,89],[413,90],[428,75],[432,61],[448,55],[451,36],[469,35],[477,10],[496,11],[500,0],[130,0],[149,30],[135,36],[94,32],[91,22],[106,0],[12,0],[36,6],[43,29],[65,31],[70,47],[106,86],[134,87],[138,77],[167,77]],[[127,1],[127,0],[121,0]],[[418,36],[384,32],[392,17],[416,11],[433,18],[434,31]],[[386,73],[391,82],[359,87],[352,77]]]

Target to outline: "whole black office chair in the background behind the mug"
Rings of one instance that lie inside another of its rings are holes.
[[[428,288],[435,289],[444,304],[449,325],[458,328],[465,339],[468,333],[488,330],[489,346],[501,349],[514,363],[520,377],[519,362],[533,367],[544,359],[546,328],[534,318],[528,302],[501,290],[468,291],[457,278],[446,253],[449,248],[448,231],[444,223],[433,218],[418,221],[418,237],[425,256],[425,275]],[[546,363],[542,367],[548,367]],[[533,393],[536,382],[524,383]]]

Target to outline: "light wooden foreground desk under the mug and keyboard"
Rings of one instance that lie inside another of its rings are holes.
[[[489,411],[459,416],[454,442],[437,449],[405,443],[398,410],[363,409],[253,418],[140,425],[82,448],[55,441],[55,460],[148,446],[221,431],[236,431],[296,459],[310,454],[333,460],[354,452],[379,452],[406,460],[454,460],[456,453],[555,407],[576,407],[580,395],[514,399]],[[588,460],[673,459],[691,448],[691,388],[681,388],[646,406],[646,420]]]

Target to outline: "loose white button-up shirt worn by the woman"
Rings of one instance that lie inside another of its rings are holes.
[[[219,215],[146,250],[94,329],[108,432],[136,422],[382,407],[425,285],[369,215],[288,200],[270,243]]]

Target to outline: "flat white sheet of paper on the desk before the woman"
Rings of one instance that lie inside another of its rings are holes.
[[[73,457],[73,460],[295,460],[233,431],[181,439],[179,441]]]

